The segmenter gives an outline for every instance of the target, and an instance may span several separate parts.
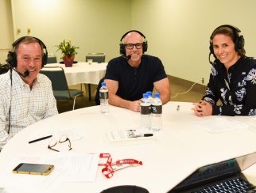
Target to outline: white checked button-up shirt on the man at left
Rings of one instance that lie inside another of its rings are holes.
[[[0,75],[0,107],[0,150],[25,127],[58,114],[51,81],[45,75],[38,74],[30,89],[14,70],[12,85],[10,70]]]

